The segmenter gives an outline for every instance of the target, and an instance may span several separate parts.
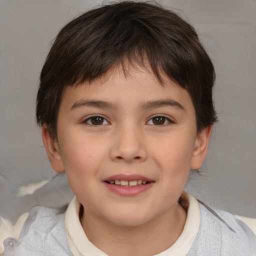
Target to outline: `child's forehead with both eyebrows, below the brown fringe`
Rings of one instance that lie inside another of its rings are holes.
[[[67,86],[62,94],[60,110],[89,106],[135,112],[138,109],[172,106],[194,114],[188,92],[164,74],[162,81],[142,68],[133,68],[126,73],[116,68],[90,83]]]

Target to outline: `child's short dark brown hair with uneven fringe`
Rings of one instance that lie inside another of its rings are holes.
[[[92,9],[58,33],[43,65],[36,99],[37,123],[56,138],[65,86],[102,76],[124,62],[161,74],[191,96],[198,132],[216,121],[212,102],[214,67],[191,25],[173,11],[147,2],[122,1]]]

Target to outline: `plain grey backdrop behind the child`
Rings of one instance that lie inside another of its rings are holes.
[[[187,190],[211,206],[255,218],[256,1],[158,2],[182,10],[216,69],[219,122],[201,175],[190,178]],[[39,72],[58,30],[101,3],[0,0],[0,214],[24,205],[13,199],[20,185],[54,175],[34,120]]]

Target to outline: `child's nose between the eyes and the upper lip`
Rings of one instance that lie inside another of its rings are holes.
[[[115,131],[110,149],[110,158],[114,161],[142,162],[147,158],[143,134],[131,127]]]

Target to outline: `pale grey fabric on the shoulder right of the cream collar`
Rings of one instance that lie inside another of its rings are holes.
[[[203,203],[199,206],[200,227],[188,255],[256,255],[256,236],[243,221]]]

